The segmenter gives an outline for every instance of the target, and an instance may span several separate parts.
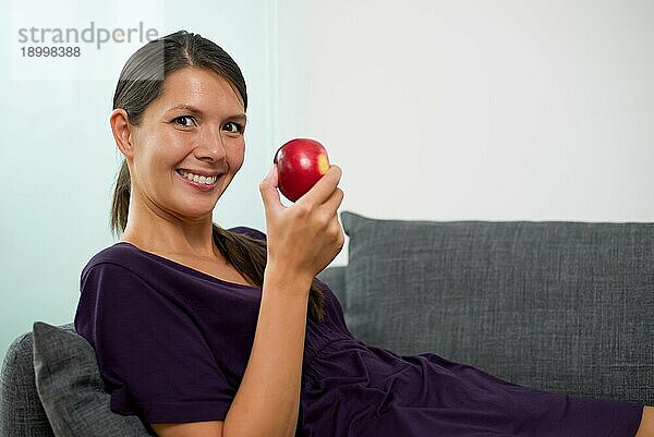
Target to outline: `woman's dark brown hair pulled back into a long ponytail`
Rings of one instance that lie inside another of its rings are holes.
[[[149,41],[130,57],[118,80],[113,109],[124,109],[130,123],[140,124],[147,106],[164,92],[166,77],[175,70],[189,66],[209,69],[226,78],[243,99],[244,109],[247,109],[245,80],[239,65],[213,41],[185,31]],[[128,226],[130,194],[130,170],[123,159],[111,206],[110,229],[117,236]],[[267,255],[265,241],[230,232],[216,223],[213,235],[225,259],[255,286],[263,287]],[[310,317],[324,319],[324,300],[323,290],[314,279],[310,291]]]

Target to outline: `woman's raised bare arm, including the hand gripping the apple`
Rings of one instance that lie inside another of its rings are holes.
[[[281,205],[277,169],[262,182],[267,265],[254,342],[225,422],[153,424],[161,437],[293,437],[298,426],[308,293],[344,243],[331,169],[293,206]]]

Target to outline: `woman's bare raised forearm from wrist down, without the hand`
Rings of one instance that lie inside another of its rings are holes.
[[[223,437],[294,436],[312,279],[266,269],[252,352]]]

